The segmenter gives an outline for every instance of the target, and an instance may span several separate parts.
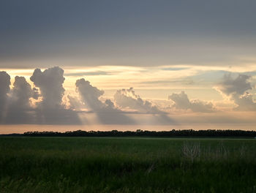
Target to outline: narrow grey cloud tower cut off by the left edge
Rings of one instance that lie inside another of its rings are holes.
[[[7,94],[10,91],[10,75],[7,72],[0,72],[0,121],[4,117],[7,105]]]

